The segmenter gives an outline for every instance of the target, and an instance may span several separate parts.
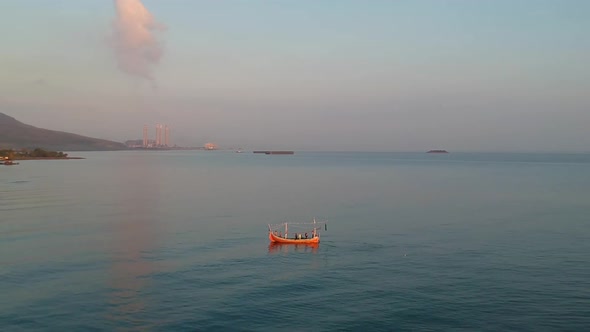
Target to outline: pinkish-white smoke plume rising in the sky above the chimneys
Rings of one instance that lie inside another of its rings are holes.
[[[112,46],[119,68],[128,74],[153,80],[153,67],[164,54],[156,32],[164,30],[164,26],[154,19],[141,0],[114,1],[117,18]]]

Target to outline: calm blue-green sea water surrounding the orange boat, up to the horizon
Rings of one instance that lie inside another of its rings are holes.
[[[590,155],[71,155],[0,167],[3,331],[590,328]]]

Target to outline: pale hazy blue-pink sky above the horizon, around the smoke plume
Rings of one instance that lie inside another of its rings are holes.
[[[137,63],[116,1],[2,0],[0,112],[183,146],[590,151],[590,1],[142,3]]]

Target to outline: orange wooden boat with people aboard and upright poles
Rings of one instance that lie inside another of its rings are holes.
[[[315,218],[310,223],[268,224],[268,239],[271,243],[318,244],[322,226],[324,230],[328,230],[328,224],[325,221],[317,222]],[[292,234],[291,237],[289,237],[290,234]]]

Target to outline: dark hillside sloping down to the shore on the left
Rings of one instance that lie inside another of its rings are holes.
[[[57,151],[125,150],[123,143],[37,128],[0,113],[0,149],[42,148]]]

